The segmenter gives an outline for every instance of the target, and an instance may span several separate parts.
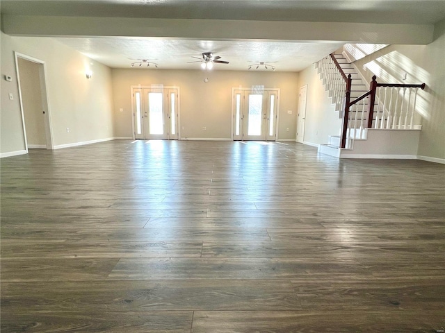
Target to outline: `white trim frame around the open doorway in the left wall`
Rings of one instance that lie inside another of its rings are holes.
[[[47,142],[47,149],[54,150],[54,136],[53,136],[53,128],[51,124],[51,112],[49,110],[48,103],[48,87],[47,87],[47,65],[46,62],[40,60],[38,58],[33,58],[31,56],[27,56],[26,54],[19,53],[14,51],[14,59],[15,59],[15,74],[17,75],[17,86],[19,90],[19,104],[20,104],[20,114],[22,117],[22,129],[23,129],[23,139],[25,143],[25,150],[28,153],[28,139],[26,138],[26,126],[25,126],[25,117],[24,117],[24,108],[23,108],[23,99],[22,99],[22,86],[20,84],[20,73],[19,73],[19,58],[28,60],[31,62],[35,62],[39,65],[39,80],[40,80],[40,96],[42,99],[42,112],[44,112],[44,132]]]

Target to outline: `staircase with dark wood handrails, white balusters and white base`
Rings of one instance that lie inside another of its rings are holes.
[[[377,83],[374,76],[371,84],[367,85],[342,54],[332,54],[321,59],[316,62],[316,69],[335,110],[339,112],[339,118],[343,118],[340,135],[329,135],[328,143],[321,144],[318,153],[334,157],[370,158],[380,155],[391,158],[401,155],[407,158],[416,154],[419,133],[412,130],[419,130],[421,126],[414,125],[413,119],[416,94],[419,88],[425,87],[424,84],[382,84]],[[392,133],[389,132],[391,130]],[[409,130],[411,133],[401,130]],[[378,147],[375,147],[374,142],[367,142],[370,131]],[[400,149],[394,149],[395,142],[400,144]],[[404,142],[409,142],[410,146]],[[360,147],[358,155],[351,153],[355,146]]]

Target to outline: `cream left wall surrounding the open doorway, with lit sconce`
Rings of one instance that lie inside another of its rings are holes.
[[[13,77],[12,82],[1,80],[2,155],[24,149],[14,51],[45,62],[56,147],[114,137],[110,68],[51,38],[1,33],[1,74]],[[86,79],[87,69],[93,72],[90,80]],[[13,101],[8,99],[9,92],[15,96]]]

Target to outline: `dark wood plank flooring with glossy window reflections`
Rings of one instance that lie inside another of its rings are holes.
[[[1,163],[1,332],[436,332],[445,166],[114,141]]]

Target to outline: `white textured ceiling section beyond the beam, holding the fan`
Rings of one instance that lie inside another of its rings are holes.
[[[192,57],[213,52],[229,65],[216,70],[248,70],[253,62],[266,62],[277,71],[300,71],[338,49],[342,43],[172,40],[131,37],[58,38],[92,59],[114,68],[127,68],[137,59],[159,64],[160,69],[200,69]],[[261,67],[261,69],[266,70]]]

